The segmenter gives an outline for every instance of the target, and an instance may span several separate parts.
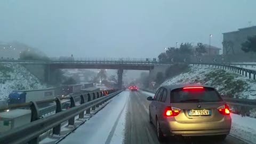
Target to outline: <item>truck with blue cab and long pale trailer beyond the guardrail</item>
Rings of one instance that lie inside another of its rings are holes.
[[[55,97],[55,89],[53,87],[48,89],[40,89],[40,90],[12,91],[12,93],[9,94],[8,105],[29,102],[29,101],[50,99],[54,97]]]

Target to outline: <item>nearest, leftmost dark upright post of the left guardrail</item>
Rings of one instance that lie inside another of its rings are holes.
[[[30,105],[30,109],[31,109],[31,119],[30,121],[36,121],[37,119],[39,119],[39,110],[38,110],[38,106],[37,103],[34,101],[30,101],[31,105]],[[30,140],[28,142],[29,144],[38,144],[39,143],[39,137],[36,137],[32,140]]]

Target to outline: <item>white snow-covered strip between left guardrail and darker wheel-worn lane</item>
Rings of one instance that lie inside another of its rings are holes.
[[[122,143],[124,138],[126,103],[128,100],[129,91],[118,94],[111,99],[105,108],[92,116],[89,121],[79,126],[74,133],[69,134],[60,143]]]

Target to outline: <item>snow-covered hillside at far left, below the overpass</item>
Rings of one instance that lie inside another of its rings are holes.
[[[0,99],[6,99],[13,90],[44,89],[46,85],[18,64],[0,64]]]

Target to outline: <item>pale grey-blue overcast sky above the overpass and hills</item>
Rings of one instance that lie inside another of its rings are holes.
[[[153,58],[176,42],[222,47],[222,33],[256,25],[255,0],[1,0],[0,41],[50,57]]]

